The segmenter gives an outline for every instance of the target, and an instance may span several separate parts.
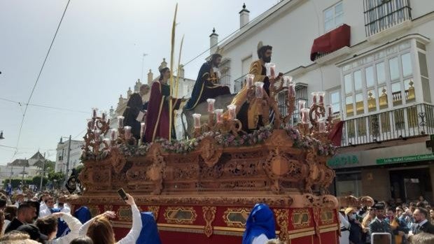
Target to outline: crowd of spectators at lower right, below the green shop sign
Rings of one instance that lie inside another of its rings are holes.
[[[381,234],[390,234],[392,244],[434,243],[434,210],[423,196],[409,203],[401,199],[375,201],[372,207],[341,208],[339,213],[341,244],[387,238]]]

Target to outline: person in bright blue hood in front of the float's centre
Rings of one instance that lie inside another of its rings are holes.
[[[265,203],[257,203],[248,215],[242,244],[266,243],[276,238],[273,211]]]

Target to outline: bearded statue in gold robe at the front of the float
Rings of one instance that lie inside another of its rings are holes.
[[[258,57],[259,59],[252,62],[248,73],[254,75],[253,82],[263,82],[263,89],[265,90],[264,98],[269,96],[270,80],[267,76],[267,69],[265,64],[271,62],[272,46],[262,45],[262,42],[258,45]],[[275,80],[279,80],[282,74]],[[259,129],[259,127],[269,124],[269,108],[268,106],[262,106],[265,101],[260,99],[253,99],[248,102],[248,90],[246,84],[234,97],[231,104],[237,106],[237,119],[241,121],[244,131],[252,131]]]

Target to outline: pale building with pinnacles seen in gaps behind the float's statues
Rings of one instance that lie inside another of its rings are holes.
[[[160,64],[159,69],[162,69],[165,67],[167,67],[167,62],[166,62],[166,59],[163,59],[163,61]],[[158,73],[160,73],[160,72],[158,72]],[[154,78],[153,72],[150,69],[148,72],[148,85],[151,87],[152,83],[155,80],[158,80],[158,78],[160,78],[160,76],[157,76],[156,78]],[[174,80],[176,80],[176,76],[174,76]],[[193,92],[193,87],[195,86],[195,82],[196,82],[196,80],[184,78],[184,68],[181,65],[181,69],[179,71],[178,97],[179,98],[184,97],[185,99],[188,99],[191,96],[191,92]],[[142,83],[141,83],[140,79],[137,80],[136,84],[134,85],[134,92],[139,92],[139,88],[141,85],[142,85]],[[113,107],[111,107],[110,112],[109,112],[109,117],[111,120],[110,121],[110,127],[111,128],[117,128],[118,127],[117,117],[119,115],[123,115],[125,108],[127,108],[128,99],[130,99],[132,92],[133,91],[132,91],[131,87],[129,87],[127,90],[127,96],[125,98],[123,97],[122,94],[119,96],[118,106],[116,106],[116,109],[113,109]],[[144,102],[149,100],[150,95],[151,95],[151,92],[146,94],[146,96],[143,98]],[[176,119],[175,119],[176,137],[181,139],[181,138],[183,138],[183,128],[182,128],[182,123],[181,123],[181,111],[179,111],[179,113],[176,113],[175,117],[176,117]]]

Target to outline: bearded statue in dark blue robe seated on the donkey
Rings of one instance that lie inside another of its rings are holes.
[[[191,97],[188,99],[184,109],[192,110],[197,104],[207,101],[207,99],[214,99],[217,96],[230,94],[229,87],[216,85],[220,77],[219,71],[216,68],[221,63],[221,58],[221,55],[214,54],[211,55],[209,62],[202,64],[197,75],[195,87],[193,87]]]

